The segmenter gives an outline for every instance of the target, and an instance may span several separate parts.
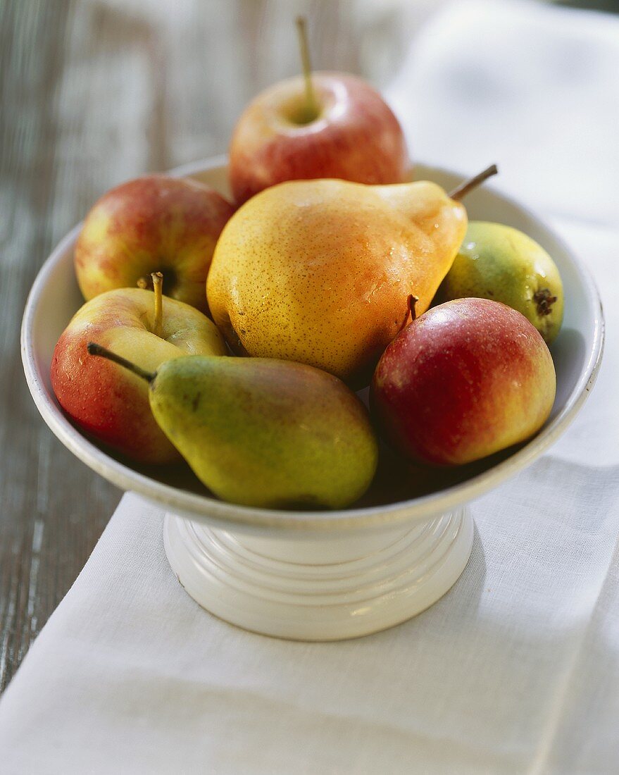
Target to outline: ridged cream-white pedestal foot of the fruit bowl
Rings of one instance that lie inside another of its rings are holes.
[[[342,640],[421,613],[452,587],[473,546],[466,508],[397,532],[264,538],[168,514],[170,566],[203,608],[243,629]]]

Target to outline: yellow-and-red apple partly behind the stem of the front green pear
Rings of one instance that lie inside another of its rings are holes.
[[[181,301],[163,298],[162,337],[153,326],[153,291],[122,288],[77,311],[53,351],[51,381],[64,412],[85,432],[141,463],[180,460],[150,411],[148,383],[88,355],[88,342],[107,347],[147,371],[183,355],[225,355],[215,324]]]

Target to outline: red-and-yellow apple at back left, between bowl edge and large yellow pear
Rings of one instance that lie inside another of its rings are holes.
[[[232,212],[196,181],[146,175],[112,188],[88,213],[75,246],[84,298],[135,288],[160,271],[164,294],[206,312],[208,267]]]

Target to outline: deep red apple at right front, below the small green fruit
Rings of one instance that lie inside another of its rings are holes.
[[[463,298],[428,310],[394,339],[370,402],[398,452],[455,465],[532,436],[549,416],[555,387],[549,349],[524,315]]]

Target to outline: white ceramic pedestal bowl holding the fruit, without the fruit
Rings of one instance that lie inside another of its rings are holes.
[[[173,174],[194,177],[229,194],[225,159],[191,164]],[[418,164],[414,177],[434,180],[449,190],[465,176]],[[597,376],[604,339],[600,298],[589,274],[543,222],[492,185],[473,191],[466,208],[469,219],[506,223],[527,233],[549,251],[562,274],[566,313],[552,346],[557,372],[552,415],[531,441],[466,470],[470,475],[463,481],[422,497],[395,502],[383,497],[378,505],[339,512],[273,511],[224,503],[201,491],[185,471],[170,474],[131,467],[82,436],[60,411],[50,385],[53,347],[83,303],[73,268],[80,226],[43,265],[22,323],[22,359],[34,401],[45,422],[80,460],[123,490],[136,491],[175,515],[167,522],[170,563],[187,590],[211,611],[248,629],[312,639],[356,636],[408,618],[443,594],[466,564],[473,529],[463,506],[535,460],[578,412]],[[438,564],[437,557],[442,558]],[[344,566],[348,575],[342,575]],[[314,569],[309,575],[308,567]],[[327,570],[321,576],[317,567]],[[390,570],[383,572],[385,567]],[[403,567],[408,573],[404,581]],[[432,576],[433,582],[421,583]],[[424,584],[427,588],[420,594]],[[259,588],[264,594],[256,593]],[[284,601],[282,595],[288,598]],[[221,605],[213,603],[214,597]],[[332,605],[340,598],[340,608]],[[396,598],[401,605],[394,607]],[[328,616],[325,601],[331,605]],[[240,608],[244,612],[239,613]],[[321,622],[312,623],[310,609]]]

